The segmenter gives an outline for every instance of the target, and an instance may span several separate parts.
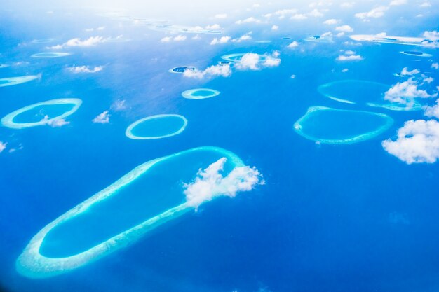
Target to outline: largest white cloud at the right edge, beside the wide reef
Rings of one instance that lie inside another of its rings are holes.
[[[382,142],[384,149],[400,160],[412,163],[434,163],[439,158],[439,122],[409,120],[398,130],[396,141]]]

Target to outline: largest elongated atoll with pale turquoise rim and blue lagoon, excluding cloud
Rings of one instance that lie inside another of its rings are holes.
[[[114,253],[194,210],[184,183],[226,158],[224,175],[245,166],[234,153],[198,147],[149,160],[41,229],[16,260],[30,278],[53,277]],[[215,197],[213,198],[215,200]]]

